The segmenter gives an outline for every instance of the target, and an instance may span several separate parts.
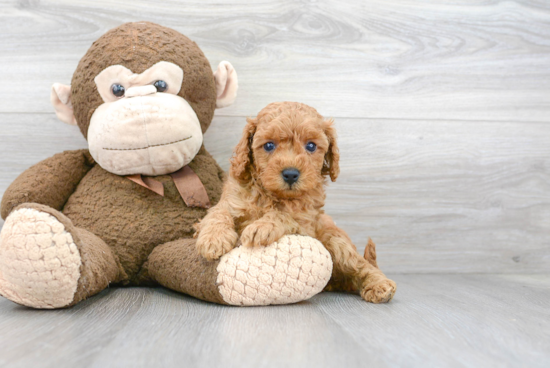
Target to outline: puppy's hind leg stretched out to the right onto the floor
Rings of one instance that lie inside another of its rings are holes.
[[[371,303],[389,302],[395,294],[395,282],[357,252],[348,235],[332,219],[323,215],[318,239],[327,248],[334,263],[333,274],[351,280],[361,297]]]

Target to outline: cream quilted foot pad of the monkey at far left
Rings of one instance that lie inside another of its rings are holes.
[[[80,253],[54,216],[12,212],[0,234],[0,294],[33,308],[69,305],[80,277]]]

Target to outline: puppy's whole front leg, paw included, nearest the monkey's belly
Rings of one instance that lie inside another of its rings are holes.
[[[235,248],[238,235],[235,222],[225,202],[220,201],[195,226],[197,251],[208,260],[215,260]]]

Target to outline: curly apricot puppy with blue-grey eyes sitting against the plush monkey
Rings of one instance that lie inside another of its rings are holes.
[[[323,211],[326,177],[339,173],[336,131],[307,105],[277,102],[247,119],[219,203],[196,225],[197,250],[209,260],[240,241],[266,246],[287,234],[318,239],[330,252],[328,290],[360,292],[373,303],[391,300],[395,283],[376,266],[374,244],[365,258]]]

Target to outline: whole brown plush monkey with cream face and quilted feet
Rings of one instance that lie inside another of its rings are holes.
[[[89,150],[46,159],[6,190],[0,294],[34,308],[63,308],[112,283],[158,283],[207,301],[248,305],[321,291],[330,257],[304,239],[254,254],[240,249],[221,268],[196,252],[192,226],[218,202],[224,178],[202,135],[214,109],[230,105],[236,90],[231,64],[212,73],[198,46],[172,29],[127,23],[94,42],[72,85],[55,84],[51,97],[57,116],[78,125]],[[317,262],[324,272],[313,267],[315,277],[300,284],[287,275],[287,263],[302,249],[309,255],[304,265]],[[232,302],[235,293],[242,295]]]

